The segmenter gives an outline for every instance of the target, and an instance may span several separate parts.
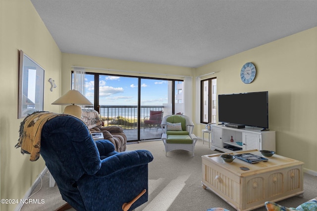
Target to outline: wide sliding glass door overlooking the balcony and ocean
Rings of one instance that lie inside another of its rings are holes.
[[[73,87],[73,86],[72,86]],[[84,95],[103,126],[120,126],[128,141],[161,138],[163,116],[184,113],[183,82],[85,73]]]

